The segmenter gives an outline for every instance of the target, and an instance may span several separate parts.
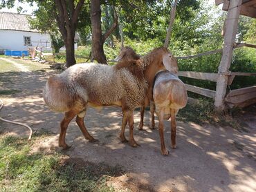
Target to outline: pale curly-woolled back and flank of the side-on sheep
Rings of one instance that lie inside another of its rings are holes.
[[[76,64],[59,75],[84,102],[104,106],[120,103],[121,99],[138,106],[145,94],[145,81],[139,81],[128,70],[115,70],[102,64]]]

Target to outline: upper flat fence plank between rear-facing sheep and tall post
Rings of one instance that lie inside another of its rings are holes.
[[[194,71],[179,71],[179,76],[182,77],[190,77],[193,79],[201,79],[201,80],[209,80],[216,82],[218,79],[217,73],[201,73],[201,72],[194,72]]]

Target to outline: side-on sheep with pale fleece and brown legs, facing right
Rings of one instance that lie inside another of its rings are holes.
[[[116,66],[102,64],[76,64],[60,75],[50,77],[43,96],[53,111],[64,112],[60,123],[59,146],[68,148],[65,142],[66,129],[76,117],[86,140],[94,142],[84,125],[86,108],[89,106],[122,107],[122,131],[120,139],[126,142],[125,126],[129,124],[129,144],[138,146],[134,140],[134,109],[152,98],[152,85],[158,70],[176,70],[167,48],[156,48],[138,60],[120,61]]]

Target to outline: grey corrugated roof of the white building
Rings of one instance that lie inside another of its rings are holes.
[[[38,30],[30,29],[27,17],[30,17],[30,15],[0,12],[0,30],[39,32]]]

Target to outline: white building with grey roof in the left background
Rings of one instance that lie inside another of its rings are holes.
[[[0,12],[0,50],[51,48],[50,35],[30,29],[27,17],[30,15]]]

